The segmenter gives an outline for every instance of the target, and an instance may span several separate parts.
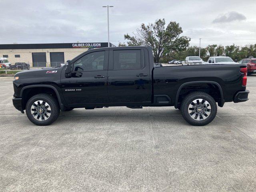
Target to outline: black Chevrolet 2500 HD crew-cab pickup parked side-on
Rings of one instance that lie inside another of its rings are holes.
[[[202,126],[215,118],[216,103],[248,100],[246,64],[154,67],[150,47],[88,50],[67,63],[15,75],[14,107],[34,124],[74,108],[174,106]]]

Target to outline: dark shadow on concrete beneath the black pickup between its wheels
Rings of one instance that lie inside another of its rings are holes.
[[[61,112],[59,118],[54,122],[54,125],[66,124],[68,126],[71,122],[76,122],[79,126],[99,127],[106,126],[191,126],[188,124],[180,110],[168,109],[162,112],[155,110],[148,110],[147,108],[138,110],[123,110],[113,107],[112,109],[74,109],[70,112]],[[216,117],[217,118],[217,117]],[[72,123],[71,123],[72,124]],[[74,125],[74,126],[76,126]]]

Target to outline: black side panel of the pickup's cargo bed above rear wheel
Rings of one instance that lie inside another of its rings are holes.
[[[188,91],[190,88],[198,89],[198,83],[205,83],[205,86],[200,86],[200,89],[219,84],[221,89],[225,90],[223,92],[224,102],[232,102],[236,92],[246,89],[242,86],[241,66],[245,65],[211,64],[156,67],[152,70],[153,94],[167,95],[171,98],[171,104],[174,105],[181,89]],[[241,89],[238,90],[238,87]]]

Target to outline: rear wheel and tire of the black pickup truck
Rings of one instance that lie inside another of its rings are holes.
[[[193,106],[192,104],[195,105]],[[208,104],[210,106],[207,106]],[[189,124],[204,126],[214,120],[217,114],[217,105],[214,98],[209,94],[204,92],[192,92],[182,100],[180,111],[183,118]]]

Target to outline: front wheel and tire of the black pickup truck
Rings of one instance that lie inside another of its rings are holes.
[[[37,110],[38,108],[40,108],[40,110]],[[32,114],[32,112],[34,112],[35,115]],[[32,123],[39,126],[52,124],[58,118],[59,114],[59,103],[56,98],[49,94],[34,95],[28,100],[26,104],[26,115],[28,119]]]

